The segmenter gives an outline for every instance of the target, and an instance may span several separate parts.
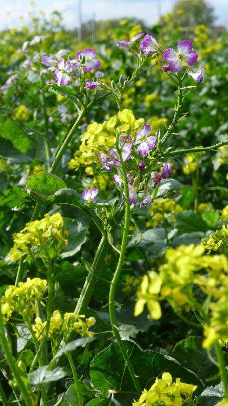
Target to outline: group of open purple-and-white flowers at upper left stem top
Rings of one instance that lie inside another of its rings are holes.
[[[42,64],[54,70],[54,79],[58,86],[67,86],[80,72],[87,73],[100,68],[101,62],[95,56],[94,49],[86,48],[78,51],[74,60],[66,62],[63,57],[58,60],[59,55],[43,55]]]

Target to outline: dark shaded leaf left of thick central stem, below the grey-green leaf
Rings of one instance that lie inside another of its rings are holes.
[[[61,262],[54,273],[61,286],[84,280],[87,274],[85,266],[75,266],[68,261]]]

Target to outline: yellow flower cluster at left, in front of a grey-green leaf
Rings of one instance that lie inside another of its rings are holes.
[[[27,223],[20,233],[13,234],[14,246],[10,250],[11,261],[17,261],[24,255],[31,258],[33,255],[38,255],[37,247],[40,250],[44,249],[44,252],[48,251],[51,257],[55,256],[63,243],[67,245],[65,237],[68,232],[63,229],[63,225],[60,213],[52,216],[45,214],[43,219]]]

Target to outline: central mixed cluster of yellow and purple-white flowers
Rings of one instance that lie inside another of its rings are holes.
[[[101,171],[111,173],[111,170],[116,170],[116,173],[112,174],[112,180],[125,200],[122,172],[124,163],[129,182],[130,203],[138,203],[138,193],[142,191],[142,207],[151,202],[150,187],[172,175],[168,162],[156,164],[155,152],[156,137],[152,135],[151,126],[145,124],[143,118],[136,120],[130,109],[124,109],[107,118],[103,124],[94,122],[88,125],[87,131],[82,135],[80,149],[75,152],[69,165],[78,169],[79,163],[91,165],[98,162],[102,165]],[[143,162],[144,159],[146,163]],[[161,174],[152,171],[157,166],[162,166]],[[97,192],[95,188],[92,191],[86,189],[82,198],[93,202]]]

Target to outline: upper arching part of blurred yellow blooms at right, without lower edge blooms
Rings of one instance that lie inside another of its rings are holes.
[[[216,289],[213,290],[212,287],[218,281],[220,283],[220,273],[227,272],[228,261],[224,255],[203,256],[203,253],[204,248],[194,244],[168,249],[166,263],[159,267],[159,273],[151,271],[143,277],[137,293],[135,316],[141,314],[147,304],[151,318],[159,319],[162,315],[159,301],[165,299],[176,312],[183,309],[187,312],[194,310],[197,300],[194,285],[198,285],[204,293],[214,294]],[[202,269],[206,272],[204,277],[201,275]],[[214,279],[208,279],[208,274],[214,275]]]

